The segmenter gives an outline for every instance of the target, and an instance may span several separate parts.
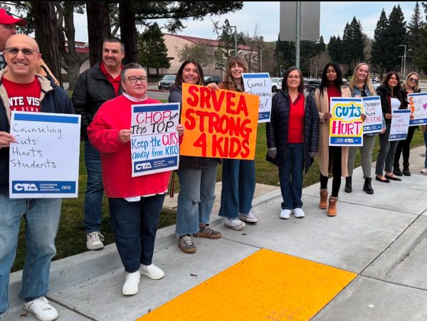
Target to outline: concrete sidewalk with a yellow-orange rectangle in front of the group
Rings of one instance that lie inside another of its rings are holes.
[[[162,228],[154,264],[166,276],[142,276],[132,297],[121,293],[125,273],[114,244],[55,261],[48,299],[58,320],[426,320],[425,151],[411,150],[411,177],[373,180],[374,195],[362,191],[355,169],[351,194],[342,179],[334,218],[318,208],[319,184],[303,190],[305,219],[288,220],[278,217],[280,189],[257,185],[259,223],[224,228],[216,206],[212,225],[223,237],[195,239],[194,254],[176,246],[174,226]],[[11,275],[2,321],[36,320],[21,310],[20,280],[21,271]]]

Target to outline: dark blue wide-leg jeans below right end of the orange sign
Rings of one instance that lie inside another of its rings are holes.
[[[219,216],[237,219],[252,209],[255,192],[255,161],[224,159]]]

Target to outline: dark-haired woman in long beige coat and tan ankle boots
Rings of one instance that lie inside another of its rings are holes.
[[[337,215],[337,201],[341,177],[347,177],[349,147],[330,146],[330,98],[350,97],[347,85],[342,82],[342,73],[337,63],[327,63],[322,73],[322,81],[315,91],[315,101],[319,110],[319,167],[320,167],[320,209],[327,209],[327,216]],[[327,202],[328,174],[332,171],[332,194]]]

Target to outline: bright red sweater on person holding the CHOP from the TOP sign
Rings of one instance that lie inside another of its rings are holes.
[[[144,102],[132,102],[120,95],[104,102],[88,127],[90,144],[101,153],[102,181],[108,197],[125,198],[167,191],[171,172],[132,177],[130,142],[122,143],[119,139],[120,130],[130,129],[131,105],[154,103],[159,101],[148,98]]]

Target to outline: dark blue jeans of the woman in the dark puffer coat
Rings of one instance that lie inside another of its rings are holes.
[[[279,166],[282,209],[302,208],[302,172],[304,170],[304,144],[288,144],[285,159]]]

